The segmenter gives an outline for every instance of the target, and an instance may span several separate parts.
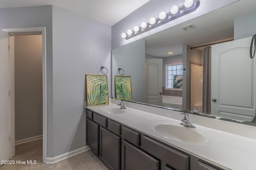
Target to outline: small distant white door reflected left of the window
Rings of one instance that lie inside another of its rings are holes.
[[[163,59],[146,59],[145,102],[162,106]]]

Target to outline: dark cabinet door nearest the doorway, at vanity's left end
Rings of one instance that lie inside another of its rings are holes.
[[[90,147],[92,152],[99,155],[99,125],[90,119],[86,119],[86,145]]]

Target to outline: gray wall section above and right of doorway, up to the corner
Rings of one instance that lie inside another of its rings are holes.
[[[0,8],[0,29],[46,27],[47,156],[52,157],[52,6]]]

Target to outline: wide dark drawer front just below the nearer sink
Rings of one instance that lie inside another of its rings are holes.
[[[140,147],[177,170],[188,170],[189,168],[188,155],[158,143],[145,135],[141,139]]]

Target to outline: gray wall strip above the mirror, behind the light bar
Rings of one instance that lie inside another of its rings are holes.
[[[238,0],[200,0],[200,6],[195,12],[191,12],[186,16],[182,16],[176,20],[165,23],[155,29],[137,35],[136,37],[133,37],[131,39],[126,40],[122,38],[121,33],[126,32],[127,29],[133,29],[135,25],[140,26],[140,23],[142,21],[148,22],[149,18],[151,17],[158,18],[159,12],[168,12],[173,5],[181,6],[184,3],[184,1],[181,0],[150,0],[146,4],[129,14],[126,18],[122,19],[121,21],[112,26],[112,49],[147,37],[148,35],[152,35],[156,32],[162,31],[174,25],[178,25],[180,23],[183,23],[184,21],[191,20],[192,18],[196,18],[236,1]]]

